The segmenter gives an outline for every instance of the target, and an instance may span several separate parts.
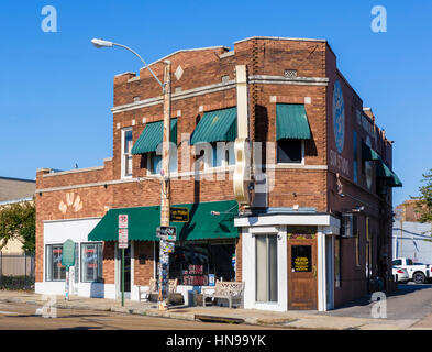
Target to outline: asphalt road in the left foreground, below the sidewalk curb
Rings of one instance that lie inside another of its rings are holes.
[[[36,315],[40,307],[0,302],[0,330],[274,330],[270,327],[176,320],[57,308],[57,318]],[[285,330],[285,329],[284,329]]]

